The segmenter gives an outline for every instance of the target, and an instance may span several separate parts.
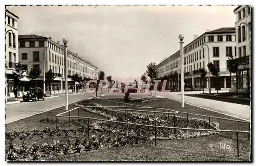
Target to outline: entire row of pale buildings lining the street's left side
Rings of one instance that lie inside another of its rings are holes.
[[[52,83],[51,90],[55,92],[63,92],[65,89],[65,66],[63,45],[59,41],[55,42],[51,37],[38,35],[18,35],[17,21],[19,18],[6,10],[6,31],[11,29],[6,34],[6,74],[7,74],[7,94],[8,97],[13,97],[14,80],[12,72],[15,70],[17,62],[22,63],[25,70],[28,72],[33,65],[38,65],[42,73],[37,79],[37,86],[43,87],[43,65],[45,57],[45,71],[49,69],[55,73],[55,82]],[[77,73],[82,78],[98,79],[98,67],[90,61],[83,59],[72,51],[68,50],[68,86],[71,88],[71,76]],[[34,81],[30,78],[22,79],[24,86],[20,86],[19,91],[24,92],[29,87],[35,86]],[[62,80],[62,81],[61,81]],[[25,86],[26,85],[26,86]],[[46,91],[49,91],[46,86]],[[22,95],[22,94],[20,94]]]

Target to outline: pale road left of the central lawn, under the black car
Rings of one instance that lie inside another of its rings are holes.
[[[102,94],[107,92],[107,89],[102,90]],[[100,92],[98,92],[100,95]],[[44,112],[54,108],[58,108],[66,105],[65,94],[59,94],[59,98],[50,98],[45,101],[39,100],[37,102],[22,102],[16,104],[6,105],[6,120],[5,123],[24,118],[39,112]],[[75,103],[81,100],[85,100],[95,96],[93,93],[79,93],[79,94],[68,94],[68,103]]]

